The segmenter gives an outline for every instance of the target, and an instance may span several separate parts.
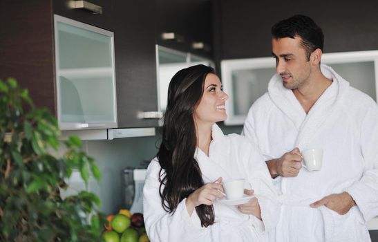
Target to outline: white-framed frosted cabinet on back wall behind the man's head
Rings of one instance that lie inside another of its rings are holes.
[[[325,53],[323,64],[334,68],[350,86],[377,101],[378,50]],[[229,59],[221,62],[223,88],[229,94],[226,102],[226,125],[243,125],[249,107],[267,91],[276,72],[274,58]]]

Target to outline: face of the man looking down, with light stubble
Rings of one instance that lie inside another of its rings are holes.
[[[301,37],[273,38],[272,54],[276,59],[276,73],[281,75],[286,89],[299,89],[309,81],[312,66],[301,46]]]

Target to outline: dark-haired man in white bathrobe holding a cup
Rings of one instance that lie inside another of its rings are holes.
[[[322,53],[310,17],[275,24],[276,75],[245,121],[281,192],[272,241],[370,241],[366,223],[378,215],[378,106],[321,64]],[[308,171],[301,151],[315,148],[323,167]]]

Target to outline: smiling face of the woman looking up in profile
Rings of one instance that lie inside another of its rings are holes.
[[[196,110],[194,111],[194,120],[199,122],[224,121],[227,118],[225,103],[228,95],[223,92],[222,84],[219,78],[209,73],[205,78],[203,94]]]

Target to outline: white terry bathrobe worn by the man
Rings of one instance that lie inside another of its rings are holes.
[[[265,160],[299,147],[323,149],[320,171],[302,168],[294,178],[275,179],[281,192],[275,241],[370,241],[366,222],[378,215],[378,107],[349,86],[329,66],[321,65],[332,84],[306,115],[279,75],[249,110],[243,133]],[[348,192],[358,206],[341,216],[310,204]],[[271,234],[272,235],[272,234]]]

